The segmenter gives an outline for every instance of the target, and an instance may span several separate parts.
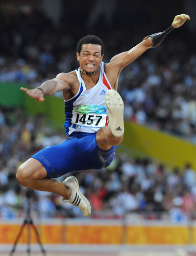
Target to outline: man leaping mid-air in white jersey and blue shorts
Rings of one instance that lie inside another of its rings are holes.
[[[17,171],[19,183],[34,190],[57,193],[64,202],[79,207],[84,216],[90,215],[90,202],[80,192],[77,179],[70,176],[61,182],[53,178],[76,170],[101,169],[112,162],[124,133],[123,100],[117,93],[121,71],[148,48],[158,46],[169,32],[188,19],[190,17],[186,14],[175,16],[169,29],[145,37],[141,43],[114,56],[107,64],[102,62],[102,40],[87,35],[77,44],[79,68],[60,73],[35,89],[22,87],[28,96],[40,102],[44,101],[44,96],[62,91],[66,115],[64,126],[69,138],[26,160]]]

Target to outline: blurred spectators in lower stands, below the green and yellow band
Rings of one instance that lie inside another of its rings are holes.
[[[16,180],[21,163],[41,148],[65,139],[64,131],[46,126],[42,115],[32,117],[21,109],[1,109],[0,218],[25,217],[28,202],[32,216],[39,218],[82,217],[77,207],[62,203],[61,196],[23,188]],[[176,223],[196,218],[196,173],[189,163],[184,169],[175,167],[171,172],[151,159],[116,154],[105,169],[72,174],[91,202],[91,218],[130,216]]]

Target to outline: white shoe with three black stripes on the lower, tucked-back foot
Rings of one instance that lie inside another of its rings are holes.
[[[89,200],[80,192],[79,184],[74,176],[69,176],[63,182],[68,188],[71,189],[70,199],[62,198],[64,203],[72,203],[77,206],[84,216],[91,214],[91,205]]]

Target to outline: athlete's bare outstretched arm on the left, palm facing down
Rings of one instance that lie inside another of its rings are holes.
[[[67,73],[60,73],[51,80],[47,80],[39,87],[35,89],[27,89],[21,87],[28,96],[37,99],[38,101],[44,101],[44,96],[50,96],[63,90],[71,90],[71,86],[76,81],[76,76]]]

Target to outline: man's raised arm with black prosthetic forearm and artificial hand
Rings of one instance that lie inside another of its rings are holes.
[[[135,59],[147,51],[147,49],[157,47],[169,32],[171,32],[174,28],[181,27],[186,20],[190,20],[189,15],[177,15],[173,19],[172,26],[164,32],[148,35],[141,43],[137,44],[129,51],[114,56],[105,68],[105,72],[110,83],[114,85],[119,74],[126,65],[132,63]],[[116,73],[116,77],[114,76],[114,73]]]

